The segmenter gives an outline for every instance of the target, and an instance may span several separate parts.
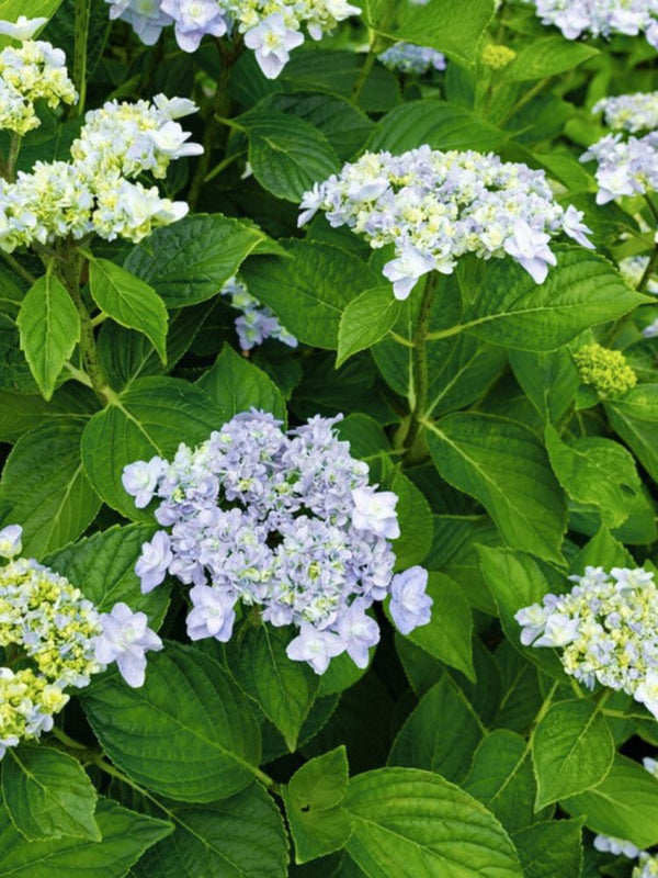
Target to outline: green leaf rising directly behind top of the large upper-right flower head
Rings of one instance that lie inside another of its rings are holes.
[[[422,43],[427,45],[427,43]],[[428,98],[396,106],[378,123],[368,144],[374,153],[400,155],[428,144],[432,149],[500,149],[509,133],[500,131],[464,106]]]

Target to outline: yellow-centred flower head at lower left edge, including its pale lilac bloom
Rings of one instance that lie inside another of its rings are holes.
[[[0,758],[8,747],[38,739],[69,700],[116,662],[128,685],[141,686],[146,650],[162,648],[143,612],[116,604],[100,614],[64,576],[18,558],[22,529],[0,530],[0,648],[14,667],[0,667]],[[121,617],[121,630],[115,619]]]

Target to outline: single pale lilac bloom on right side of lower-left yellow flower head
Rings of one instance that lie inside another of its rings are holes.
[[[145,612],[133,612],[127,604],[115,604],[112,612],[101,614],[103,633],[95,641],[95,657],[103,665],[116,666],[133,688],[144,685],[146,655],[149,650],[161,650],[162,641],[148,628]]]

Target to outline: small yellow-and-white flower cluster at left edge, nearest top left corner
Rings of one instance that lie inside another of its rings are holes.
[[[0,128],[20,136],[41,125],[34,102],[48,106],[75,103],[76,89],[65,67],[64,52],[50,43],[32,40],[47,19],[26,19],[15,23],[0,21],[0,33],[21,42],[0,52]]]

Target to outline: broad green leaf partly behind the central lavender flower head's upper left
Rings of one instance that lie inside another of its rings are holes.
[[[121,477],[128,463],[172,457],[181,442],[205,441],[223,424],[207,395],[186,381],[143,378],[135,381],[88,423],[82,434],[82,462],[102,499],[126,518],[151,520],[135,508]]]

